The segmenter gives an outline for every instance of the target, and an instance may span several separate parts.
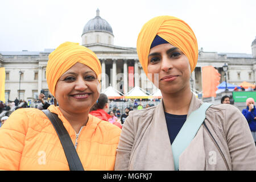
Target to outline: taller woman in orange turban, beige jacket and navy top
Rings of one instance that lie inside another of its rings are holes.
[[[254,140],[240,110],[205,104],[191,92],[198,48],[187,23],[174,16],[149,20],[137,52],[163,99],[129,113],[115,170],[256,170]]]

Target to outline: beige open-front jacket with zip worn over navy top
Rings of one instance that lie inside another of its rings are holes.
[[[201,104],[193,95],[188,115]],[[240,110],[228,104],[212,105],[205,124],[180,155],[179,170],[256,170],[255,143]],[[119,139],[115,170],[174,170],[163,101],[130,111]]]

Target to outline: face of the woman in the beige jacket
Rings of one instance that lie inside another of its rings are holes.
[[[176,93],[190,88],[191,68],[187,56],[171,44],[160,44],[148,55],[150,80],[164,93]]]

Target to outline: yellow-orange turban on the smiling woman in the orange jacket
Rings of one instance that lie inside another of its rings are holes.
[[[49,54],[46,67],[48,88],[54,97],[57,81],[76,63],[85,64],[92,69],[100,82],[101,63],[96,54],[84,46],[79,46],[79,43],[65,42]]]

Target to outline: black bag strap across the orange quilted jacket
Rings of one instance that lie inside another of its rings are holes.
[[[60,142],[62,144],[65,156],[68,160],[68,166],[70,171],[84,171],[82,163],[79,159],[79,156],[76,152],[76,148],[69,137],[68,131],[65,129],[63,122],[55,113],[51,113],[48,109],[42,110],[44,114],[47,115],[51,121],[53,127],[56,130],[57,135],[59,136]]]

